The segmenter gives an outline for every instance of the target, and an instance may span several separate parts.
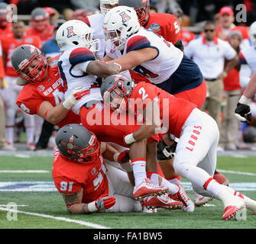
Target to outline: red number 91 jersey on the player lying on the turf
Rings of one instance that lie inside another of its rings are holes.
[[[60,193],[72,194],[83,188],[82,202],[88,204],[109,194],[107,169],[102,156],[96,162],[79,163],[63,157],[58,149],[53,159],[53,181]]]

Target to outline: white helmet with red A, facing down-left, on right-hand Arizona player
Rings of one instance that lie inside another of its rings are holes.
[[[103,32],[107,43],[115,45],[113,50],[124,50],[125,40],[140,29],[134,8],[118,6],[105,14]]]

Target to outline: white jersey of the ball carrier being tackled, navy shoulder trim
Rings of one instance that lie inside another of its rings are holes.
[[[79,114],[80,108],[88,101],[102,100],[100,93],[100,86],[96,82],[97,77],[95,75],[89,75],[83,72],[81,69],[77,69],[76,65],[83,63],[83,70],[86,70],[86,66],[92,60],[96,60],[94,54],[86,47],[73,47],[70,50],[60,54],[58,60],[60,76],[63,82],[67,85],[67,91],[65,92],[65,98],[70,95],[73,88],[82,87],[84,90],[89,90],[89,94],[83,96],[72,108],[75,114]]]

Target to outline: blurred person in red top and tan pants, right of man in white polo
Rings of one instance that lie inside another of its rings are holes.
[[[232,31],[228,42],[235,49],[236,53],[240,51],[241,32]],[[238,146],[238,120],[235,117],[235,108],[241,95],[241,86],[239,83],[238,63],[234,69],[228,72],[228,76],[223,79],[226,104],[223,109],[222,130],[220,135],[220,145],[226,150],[235,150]]]

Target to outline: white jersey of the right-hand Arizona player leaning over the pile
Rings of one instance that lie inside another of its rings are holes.
[[[165,82],[180,66],[183,52],[174,47],[173,43],[165,40],[164,37],[154,33],[153,30],[141,27],[136,34],[133,34],[125,41],[123,55],[133,50],[147,47],[155,48],[158,55],[154,59],[146,61],[131,70],[144,75],[154,84]]]

